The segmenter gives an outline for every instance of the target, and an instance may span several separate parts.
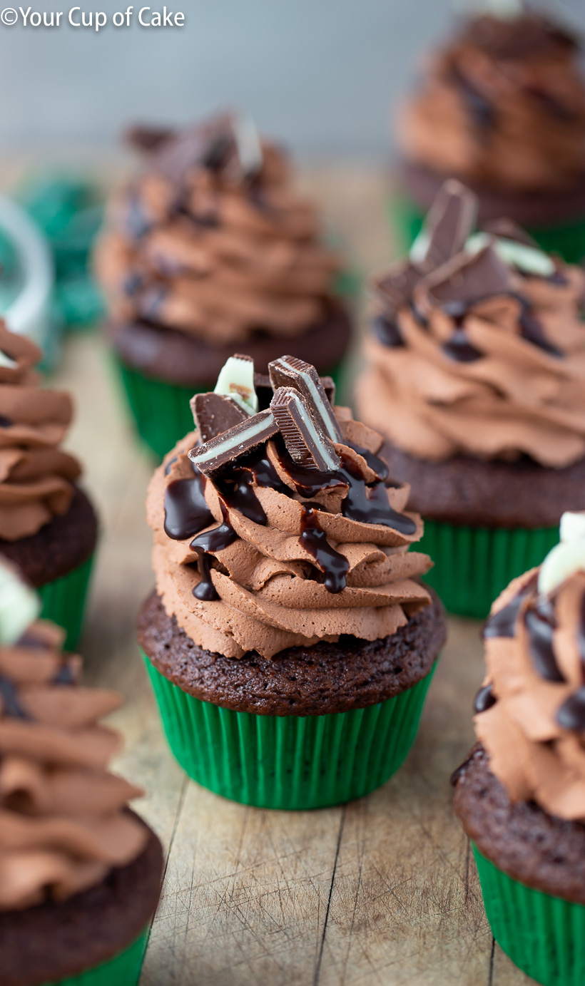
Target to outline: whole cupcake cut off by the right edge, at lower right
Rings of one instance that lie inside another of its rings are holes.
[[[585,514],[494,602],[478,743],[454,774],[496,942],[545,986],[585,981]]]

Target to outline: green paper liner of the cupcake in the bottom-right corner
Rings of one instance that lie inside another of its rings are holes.
[[[502,951],[544,986],[585,983],[585,907],[525,886],[474,846],[485,913]]]

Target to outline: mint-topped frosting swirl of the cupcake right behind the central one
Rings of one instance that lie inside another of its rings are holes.
[[[475,205],[446,182],[410,256],[374,280],[358,412],[418,458],[571,465],[585,456],[585,275],[508,221],[472,236]]]

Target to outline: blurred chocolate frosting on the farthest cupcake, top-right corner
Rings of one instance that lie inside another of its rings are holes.
[[[585,77],[576,39],[536,11],[464,22],[429,59],[398,134],[409,162],[478,186],[578,187]]]

